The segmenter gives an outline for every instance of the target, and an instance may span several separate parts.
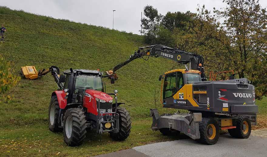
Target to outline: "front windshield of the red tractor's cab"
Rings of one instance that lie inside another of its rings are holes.
[[[78,75],[75,87],[103,91],[102,80],[99,75]]]

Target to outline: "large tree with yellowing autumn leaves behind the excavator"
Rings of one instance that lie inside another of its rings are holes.
[[[248,78],[255,85],[256,98],[267,95],[266,78],[266,8],[259,0],[223,0],[226,8],[214,15],[198,8],[194,22],[187,30],[176,32],[177,46],[198,52],[205,58],[206,69],[233,69],[239,78]],[[219,19],[225,19],[222,23]]]

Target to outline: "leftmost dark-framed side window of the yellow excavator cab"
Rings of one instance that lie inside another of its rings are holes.
[[[176,90],[176,73],[166,75],[164,80],[164,98],[168,98],[173,96],[177,90]]]

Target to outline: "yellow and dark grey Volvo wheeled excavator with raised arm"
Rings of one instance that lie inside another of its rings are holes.
[[[220,130],[228,129],[235,138],[250,136],[251,125],[257,124],[255,87],[246,78],[207,81],[201,55],[164,45],[139,47],[128,60],[106,73],[114,83],[118,79],[117,70],[137,58],[148,60],[149,57],[163,57],[185,65],[185,69],[160,75],[159,81],[163,107],[188,110],[188,114],[160,116],[157,109],[150,109],[152,130],[160,130],[164,135],[182,132],[208,145],[218,141]]]

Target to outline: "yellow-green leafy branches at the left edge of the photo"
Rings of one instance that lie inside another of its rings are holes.
[[[14,75],[11,62],[8,62],[0,55],[0,96],[2,96],[6,103],[14,97],[13,91],[10,91],[10,89],[17,85],[19,80],[20,77]]]

